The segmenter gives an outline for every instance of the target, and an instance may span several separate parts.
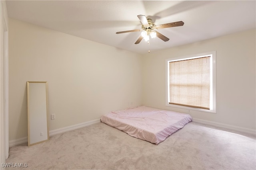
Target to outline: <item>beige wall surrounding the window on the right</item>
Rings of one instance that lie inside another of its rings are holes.
[[[255,37],[254,29],[144,55],[142,103],[188,113],[186,109],[165,106],[165,60],[216,51],[217,113],[191,111],[190,115],[255,131]]]

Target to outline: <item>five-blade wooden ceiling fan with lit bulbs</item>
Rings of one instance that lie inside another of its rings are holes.
[[[149,40],[149,35],[151,38],[158,37],[162,39],[163,41],[168,41],[169,38],[166,36],[162,35],[158,31],[155,31],[155,29],[162,29],[162,28],[169,28],[169,27],[178,27],[184,25],[183,21],[178,21],[178,22],[172,22],[172,23],[164,23],[161,25],[155,25],[154,22],[151,19],[147,19],[146,16],[144,15],[138,15],[138,18],[140,22],[142,23],[142,29],[133,29],[129,31],[120,31],[116,32],[117,34],[120,33],[128,33],[128,32],[136,32],[136,31],[142,31],[140,37],[137,39],[135,44],[140,43],[142,39],[145,39],[146,41]]]

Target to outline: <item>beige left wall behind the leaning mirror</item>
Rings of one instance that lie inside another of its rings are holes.
[[[9,20],[9,136],[27,137],[27,81],[48,82],[50,130],[141,104],[141,56]]]

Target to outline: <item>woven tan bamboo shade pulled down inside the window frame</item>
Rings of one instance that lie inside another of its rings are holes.
[[[210,110],[210,56],[169,63],[170,102]]]

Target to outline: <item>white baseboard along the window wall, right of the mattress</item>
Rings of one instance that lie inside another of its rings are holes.
[[[218,122],[214,122],[214,121],[196,119],[196,118],[193,118],[193,121],[196,122],[196,123],[202,123],[202,124],[205,124],[205,125],[212,125],[212,126],[215,126],[215,127],[221,127],[221,128],[229,129],[229,130],[232,130],[232,131],[238,131],[238,132],[242,132],[242,133],[248,133],[248,134],[251,134],[251,135],[256,135],[256,130],[255,129],[249,129],[249,128],[244,128],[244,127],[239,127],[239,126],[233,126],[233,125],[218,123]]]

